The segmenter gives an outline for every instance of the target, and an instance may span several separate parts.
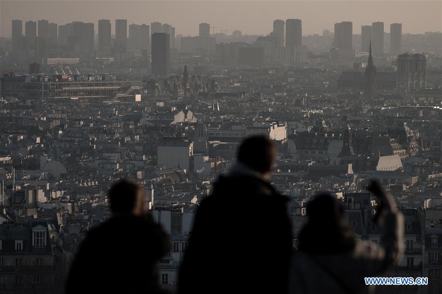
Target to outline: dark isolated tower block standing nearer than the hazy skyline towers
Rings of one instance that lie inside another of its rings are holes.
[[[170,65],[170,38],[165,33],[152,34],[152,74],[167,75]]]

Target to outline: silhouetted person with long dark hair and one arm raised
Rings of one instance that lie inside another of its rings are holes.
[[[307,203],[308,221],[299,235],[299,251],[292,258],[291,294],[359,294],[369,291],[364,277],[377,277],[403,251],[403,216],[378,182],[368,187],[378,198],[376,221],[382,245],[357,242],[344,220],[344,206],[328,193]]]

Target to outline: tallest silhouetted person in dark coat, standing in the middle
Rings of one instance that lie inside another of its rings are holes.
[[[250,137],[196,211],[179,294],[286,293],[292,248],[287,199],[268,182],[275,146]]]

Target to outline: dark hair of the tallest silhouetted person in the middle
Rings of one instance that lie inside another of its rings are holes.
[[[253,136],[243,141],[238,161],[256,172],[269,172],[275,156],[275,145],[264,136]]]

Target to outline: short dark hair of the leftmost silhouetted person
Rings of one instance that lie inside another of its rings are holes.
[[[139,185],[131,180],[122,179],[109,189],[109,201],[113,213],[130,213],[137,201]]]

